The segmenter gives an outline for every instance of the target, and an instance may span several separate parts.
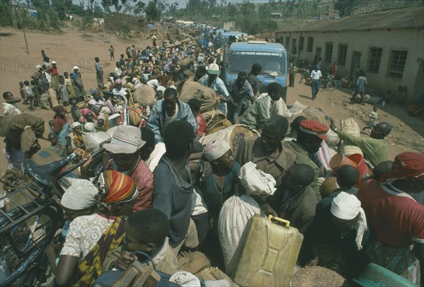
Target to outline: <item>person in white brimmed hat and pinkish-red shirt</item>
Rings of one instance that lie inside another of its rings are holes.
[[[152,207],[153,172],[141,159],[145,144],[146,141],[141,139],[140,129],[132,126],[119,126],[114,129],[110,143],[103,145],[103,148],[112,156],[112,161],[107,168],[129,175],[139,189],[134,211]]]

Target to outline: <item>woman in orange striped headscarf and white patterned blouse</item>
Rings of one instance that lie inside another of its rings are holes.
[[[122,244],[126,216],[132,213],[138,195],[128,175],[114,170],[100,175],[99,209],[91,215],[75,218],[69,226],[55,270],[57,284],[91,286],[94,283],[100,276],[107,252]]]

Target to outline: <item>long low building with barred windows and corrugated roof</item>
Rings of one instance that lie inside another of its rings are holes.
[[[322,71],[336,62],[338,78],[353,79],[359,65],[380,95],[398,86],[408,88],[408,102],[424,94],[424,5],[296,24],[276,41],[297,59],[322,58]]]

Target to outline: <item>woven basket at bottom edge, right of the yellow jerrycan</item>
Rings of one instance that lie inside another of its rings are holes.
[[[320,266],[302,268],[293,274],[290,283],[292,287],[326,286],[341,287],[350,286],[348,281],[336,272]]]

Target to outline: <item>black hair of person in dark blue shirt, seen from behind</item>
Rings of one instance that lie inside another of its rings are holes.
[[[170,159],[184,158],[194,139],[194,129],[189,122],[180,119],[171,122],[163,134],[166,156]]]

